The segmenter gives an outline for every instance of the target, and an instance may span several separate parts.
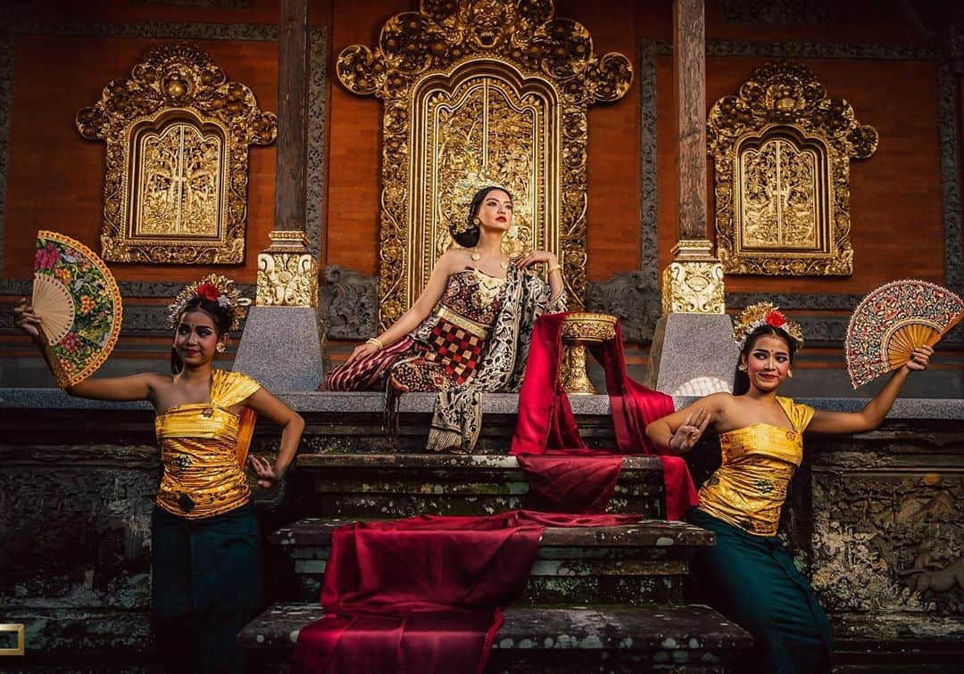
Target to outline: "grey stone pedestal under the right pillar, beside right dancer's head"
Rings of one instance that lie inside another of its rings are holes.
[[[667,314],[656,323],[646,385],[671,396],[732,393],[738,356],[726,314]]]

